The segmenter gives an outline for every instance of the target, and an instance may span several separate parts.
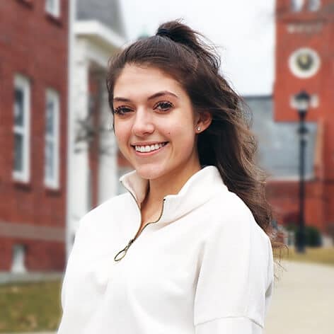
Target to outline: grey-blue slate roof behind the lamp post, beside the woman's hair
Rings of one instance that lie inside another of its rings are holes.
[[[244,96],[253,113],[252,129],[258,137],[258,163],[275,179],[299,176],[299,122],[275,122],[272,96]],[[306,178],[313,177],[316,147],[316,122],[306,122]]]

